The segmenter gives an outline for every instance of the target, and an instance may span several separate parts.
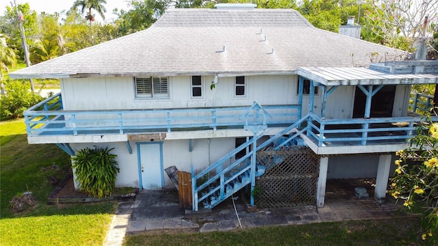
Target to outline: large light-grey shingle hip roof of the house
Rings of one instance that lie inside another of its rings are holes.
[[[175,9],[149,29],[10,77],[281,74],[298,66],[368,65],[378,53],[400,51],[317,29],[295,10]]]

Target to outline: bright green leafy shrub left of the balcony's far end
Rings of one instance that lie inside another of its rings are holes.
[[[0,97],[1,120],[23,117],[23,112],[44,98],[30,91],[30,86],[20,81],[8,81],[6,94]]]

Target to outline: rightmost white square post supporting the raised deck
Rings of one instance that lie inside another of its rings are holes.
[[[378,157],[376,187],[374,188],[374,200],[376,200],[378,204],[385,203],[390,167],[391,154],[381,154],[381,156]]]

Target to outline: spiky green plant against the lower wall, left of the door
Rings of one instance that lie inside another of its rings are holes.
[[[112,195],[119,172],[116,154],[108,148],[85,148],[73,156],[73,168],[79,182],[79,190],[94,197]]]

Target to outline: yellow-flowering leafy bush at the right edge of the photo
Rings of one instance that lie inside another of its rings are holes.
[[[436,116],[436,115],[435,115]],[[391,195],[405,210],[421,215],[423,240],[438,242],[438,123],[431,116],[417,128],[405,150],[396,152]]]

